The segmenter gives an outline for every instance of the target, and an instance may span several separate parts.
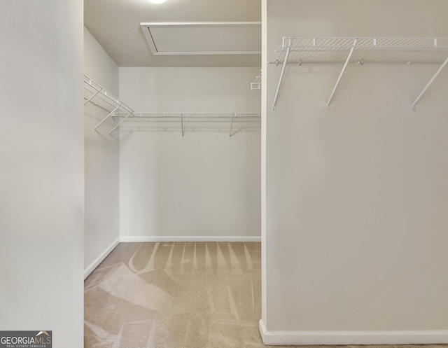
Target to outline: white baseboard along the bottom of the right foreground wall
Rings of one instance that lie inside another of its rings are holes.
[[[266,345],[448,343],[448,330],[267,331],[262,320],[259,322],[259,329]]]

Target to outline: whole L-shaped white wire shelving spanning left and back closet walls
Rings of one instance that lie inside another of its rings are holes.
[[[236,132],[232,132],[234,123],[259,123],[261,121],[261,113],[255,112],[238,112],[238,113],[192,113],[192,112],[135,112],[120,99],[111,94],[98,83],[94,82],[90,77],[84,75],[84,89],[91,93],[89,97],[84,97],[84,105],[91,103],[108,112],[94,127],[97,131],[99,125],[102,125],[109,117],[118,120],[118,123],[109,131],[109,135],[116,130],[125,120],[147,120],[150,122],[177,122],[181,125],[182,137],[185,134],[185,123],[197,122],[222,122],[230,123],[229,139]],[[108,108],[95,102],[99,99],[102,104],[107,104]],[[113,109],[112,109],[113,108]],[[112,109],[112,110],[110,110]]]

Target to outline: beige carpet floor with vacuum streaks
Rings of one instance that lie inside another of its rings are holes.
[[[118,244],[85,280],[84,347],[265,347],[260,266],[260,243]]]

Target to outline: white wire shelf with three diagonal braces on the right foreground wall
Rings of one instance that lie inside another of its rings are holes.
[[[275,50],[268,62],[268,64],[282,64],[279,83],[272,102],[272,112],[276,112],[276,102],[286,64],[307,63],[344,63],[325,104],[326,109],[330,108],[332,98],[349,63],[360,65],[365,63],[441,64],[412,102],[411,110],[415,111],[416,104],[423,94],[448,64],[448,38],[283,36],[281,46]]]

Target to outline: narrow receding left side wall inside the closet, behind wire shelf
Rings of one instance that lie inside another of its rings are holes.
[[[84,74],[118,97],[118,67],[92,34],[84,28]],[[85,97],[90,97],[85,92]],[[106,106],[98,98],[92,102]],[[92,103],[85,105],[85,230],[84,269],[87,277],[118,243],[119,225],[119,144],[115,125],[109,118],[94,131],[108,111]]]

